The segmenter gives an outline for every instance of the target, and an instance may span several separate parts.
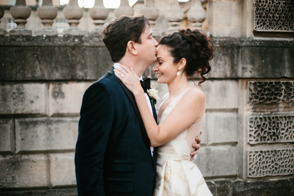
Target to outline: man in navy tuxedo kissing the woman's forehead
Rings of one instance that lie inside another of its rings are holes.
[[[156,61],[158,42],[144,16],[119,17],[102,35],[114,66],[132,67],[141,76]],[[150,88],[150,83],[145,86]],[[154,106],[145,96],[157,121]],[[134,95],[113,68],[86,90],[80,115],[75,151],[78,195],[151,196],[156,149],[150,148]]]

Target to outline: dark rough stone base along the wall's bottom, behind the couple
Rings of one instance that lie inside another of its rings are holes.
[[[294,196],[294,177],[205,180],[213,196]],[[77,196],[77,188],[0,191],[0,196]]]

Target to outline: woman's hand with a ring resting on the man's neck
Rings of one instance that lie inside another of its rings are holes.
[[[118,77],[123,82],[126,88],[128,88],[134,94],[134,96],[142,92],[144,93],[138,75],[132,68],[129,69],[126,66],[120,65],[120,67],[114,68],[114,73],[116,77]]]

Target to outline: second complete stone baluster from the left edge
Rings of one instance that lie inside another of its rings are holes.
[[[43,28],[36,31],[36,35],[57,36],[56,28],[52,28],[53,20],[57,16],[58,9],[53,6],[52,0],[43,0],[42,6],[37,8],[37,15],[42,20]]]

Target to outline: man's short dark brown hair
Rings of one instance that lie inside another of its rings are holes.
[[[129,41],[141,43],[141,34],[150,26],[145,16],[121,16],[108,23],[102,30],[102,41],[110,53],[111,60],[118,62],[126,53]]]

